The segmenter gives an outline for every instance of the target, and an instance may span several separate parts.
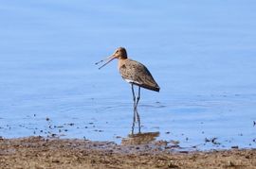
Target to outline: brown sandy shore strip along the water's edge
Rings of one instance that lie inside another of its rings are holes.
[[[0,168],[256,168],[256,149],[186,151],[175,144],[0,139]]]

